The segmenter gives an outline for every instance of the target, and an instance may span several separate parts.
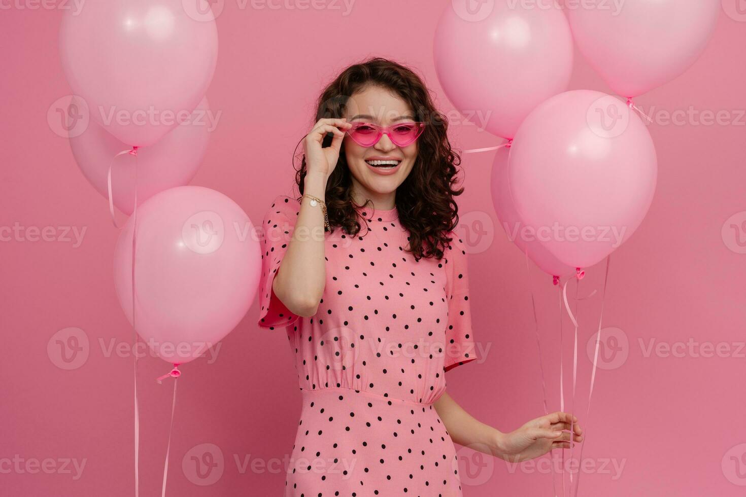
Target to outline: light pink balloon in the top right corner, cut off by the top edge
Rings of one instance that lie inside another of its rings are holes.
[[[568,0],[569,1],[569,0]],[[614,92],[635,97],[686,71],[703,51],[720,0],[573,1],[568,19],[580,51]]]

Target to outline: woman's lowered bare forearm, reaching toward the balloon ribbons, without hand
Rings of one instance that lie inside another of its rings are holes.
[[[451,440],[484,454],[501,458],[499,442],[502,432],[476,420],[448,395],[442,393],[433,405],[451,435]]]

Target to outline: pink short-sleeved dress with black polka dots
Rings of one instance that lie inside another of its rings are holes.
[[[433,407],[445,372],[477,359],[462,241],[415,262],[397,209],[363,207],[358,235],[325,234],[324,294],[299,317],[272,279],[300,208],[277,197],[262,238],[259,324],[286,329],[303,401],[284,496],[462,496]]]

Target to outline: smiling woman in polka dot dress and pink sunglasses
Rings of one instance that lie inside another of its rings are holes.
[[[285,496],[461,496],[454,442],[513,462],[569,447],[570,414],[501,433],[445,391],[479,358],[447,128],[410,69],[350,66],[303,140],[301,196],[264,218],[259,324],[286,329],[303,398]]]

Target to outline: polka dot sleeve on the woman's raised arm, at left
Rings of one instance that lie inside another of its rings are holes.
[[[264,215],[259,233],[262,249],[262,276],[259,285],[258,322],[263,328],[275,329],[275,326],[289,326],[298,320],[298,314],[290,312],[272,291],[272,282],[275,280],[280,262],[292,238],[292,229],[295,227],[300,209],[301,205],[298,200],[279,195]]]

